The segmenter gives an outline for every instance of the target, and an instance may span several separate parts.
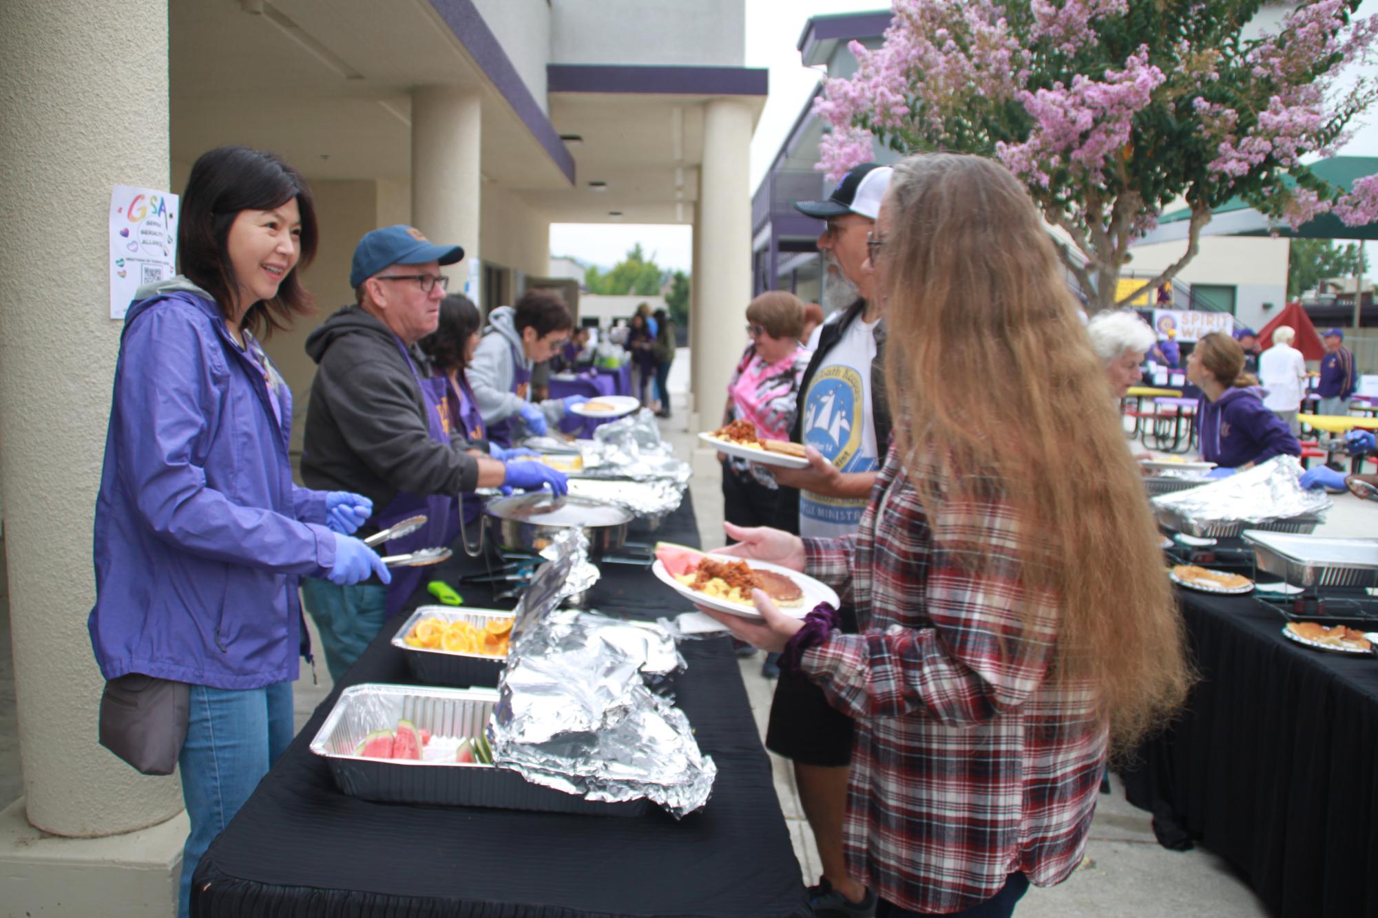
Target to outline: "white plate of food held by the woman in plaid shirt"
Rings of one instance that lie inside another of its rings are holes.
[[[794,618],[803,618],[819,603],[839,606],[836,592],[808,574],[678,545],[657,545],[650,573],[692,603],[743,618],[761,617],[751,600],[752,588],[763,589],[780,611]]]

